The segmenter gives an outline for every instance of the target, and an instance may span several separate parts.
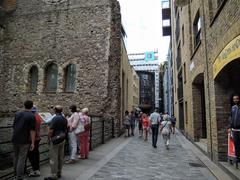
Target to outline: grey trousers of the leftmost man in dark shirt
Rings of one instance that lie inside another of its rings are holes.
[[[17,179],[24,178],[24,167],[27,159],[29,144],[13,144],[14,151],[14,174]]]

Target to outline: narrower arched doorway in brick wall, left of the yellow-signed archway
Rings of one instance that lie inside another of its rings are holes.
[[[207,139],[204,92],[204,74],[198,74],[192,83],[194,140]]]

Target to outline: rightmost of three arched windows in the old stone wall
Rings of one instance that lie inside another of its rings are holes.
[[[65,69],[65,91],[73,92],[75,90],[76,65],[69,64]]]

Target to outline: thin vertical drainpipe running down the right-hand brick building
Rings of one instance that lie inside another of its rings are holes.
[[[210,88],[209,88],[209,66],[208,66],[208,51],[207,51],[207,40],[206,40],[206,23],[205,23],[205,6],[204,6],[204,0],[201,0],[202,8],[203,8],[203,33],[204,33],[204,44],[205,44],[205,60],[206,60],[206,72],[207,72],[207,93],[208,97],[210,97]],[[211,160],[213,160],[213,147],[212,147],[212,118],[211,118],[211,101],[210,98],[208,100],[208,116],[209,116],[209,134],[210,134],[210,152],[211,152]]]

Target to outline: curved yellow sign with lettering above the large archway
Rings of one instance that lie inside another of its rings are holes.
[[[240,57],[240,35],[233,39],[222,50],[213,64],[213,78],[215,79],[219,72],[231,61]]]

